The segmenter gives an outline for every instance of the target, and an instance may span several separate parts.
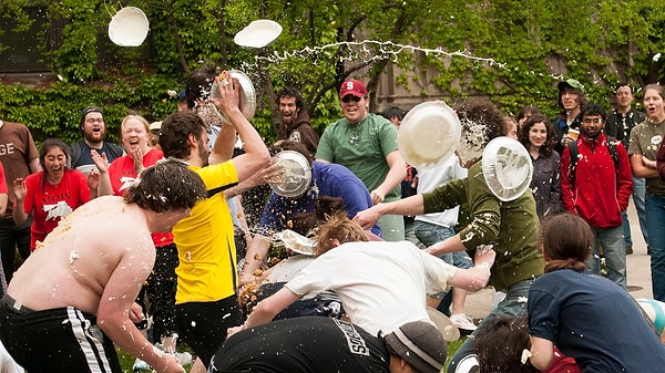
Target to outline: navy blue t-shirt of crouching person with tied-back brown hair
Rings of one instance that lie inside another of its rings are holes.
[[[583,372],[658,372],[665,348],[616,283],[561,269],[529,290],[529,333],[552,341]]]

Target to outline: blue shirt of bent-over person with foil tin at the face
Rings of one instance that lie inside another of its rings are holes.
[[[288,220],[295,214],[314,211],[319,196],[342,198],[349,218],[372,206],[367,187],[348,168],[334,163],[314,162],[311,185],[303,196],[289,198],[276,193],[270,195],[258,222],[258,232],[268,236],[270,231],[288,228]],[[371,231],[381,235],[381,229],[377,225],[371,228]]]

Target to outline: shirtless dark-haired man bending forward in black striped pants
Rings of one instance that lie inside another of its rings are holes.
[[[157,372],[184,372],[134,322],[155,261],[151,232],[170,231],[206,197],[181,162],[146,168],[124,197],[81,206],[16,272],[0,300],[0,340],[25,370],[122,372],[114,343]]]

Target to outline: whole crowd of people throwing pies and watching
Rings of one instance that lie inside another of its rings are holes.
[[[106,142],[96,106],[69,146],[49,138],[38,151],[28,127],[0,122],[12,148],[0,155],[0,341],[32,373],[121,372],[114,345],[157,372],[648,372],[665,348],[626,292],[626,209],[633,196],[665,301],[665,90],[643,90],[645,113],[628,84],[611,112],[576,80],[557,90],[553,120],[533,105],[513,118],[487,100],[458,102],[462,135],[474,134],[464,144],[480,152],[423,169],[398,147],[406,111],[370,113],[355,79],[320,137],[298,90],[278,91],[269,147],[238,105],[237,77],[214,65],[187,79],[163,121],[124,117],[121,145]],[[509,200],[481,156],[502,136],[533,165],[530,188]],[[296,194],[279,187],[295,183],[284,154],[301,159]],[[313,258],[264,294],[285,230],[313,239]],[[475,324],[467,292],[488,284],[501,297]],[[243,292],[259,298],[250,309]],[[341,308],[330,317],[274,320],[324,293]],[[447,367],[431,312],[472,335]]]

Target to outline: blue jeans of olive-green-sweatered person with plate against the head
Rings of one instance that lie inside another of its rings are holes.
[[[529,288],[531,288],[531,283],[533,280],[521,281],[510,286],[505,290],[505,299],[503,299],[495,309],[493,309],[487,318],[478,325],[478,329],[471,333],[471,335],[477,335],[484,328],[487,328],[487,320],[491,320],[495,317],[501,315],[511,315],[519,317],[526,313],[526,300],[529,298]],[[448,364],[448,373],[454,373],[457,369],[457,364],[462,358],[475,353],[475,346],[473,345],[473,339],[468,338],[462,345],[458,349],[458,351],[452,355],[450,363]]]

